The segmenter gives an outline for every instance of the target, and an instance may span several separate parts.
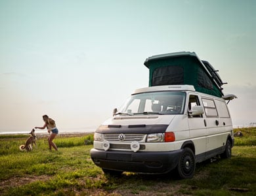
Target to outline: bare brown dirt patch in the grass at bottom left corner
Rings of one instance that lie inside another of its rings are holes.
[[[1,181],[0,189],[1,189],[1,191],[5,191],[11,187],[15,188],[17,186],[30,184],[30,183],[38,181],[38,180],[42,180],[42,181],[49,180],[50,178],[51,178],[51,176],[47,176],[47,175],[14,177],[14,178],[10,178],[8,180]]]

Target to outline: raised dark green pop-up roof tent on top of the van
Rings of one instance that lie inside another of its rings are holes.
[[[150,71],[149,86],[193,85],[196,91],[223,97],[224,84],[207,61],[194,52],[175,52],[148,57],[144,62]]]

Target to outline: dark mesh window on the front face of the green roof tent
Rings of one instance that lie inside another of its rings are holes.
[[[183,67],[167,66],[156,69],[152,76],[152,86],[184,84]]]

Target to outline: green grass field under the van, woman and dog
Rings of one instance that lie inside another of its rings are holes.
[[[89,156],[93,146],[85,145],[92,135],[58,136],[58,152],[49,152],[47,138],[39,137],[28,153],[18,149],[26,138],[1,137],[0,195],[254,195],[256,129],[240,131],[244,137],[236,137],[232,159],[198,163],[189,180],[131,172],[104,176]]]

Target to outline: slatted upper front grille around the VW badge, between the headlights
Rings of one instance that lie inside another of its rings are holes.
[[[124,134],[125,139],[120,140],[119,139],[120,134],[104,134],[104,140],[108,141],[117,141],[117,142],[143,142],[146,139],[146,135],[144,134]]]

